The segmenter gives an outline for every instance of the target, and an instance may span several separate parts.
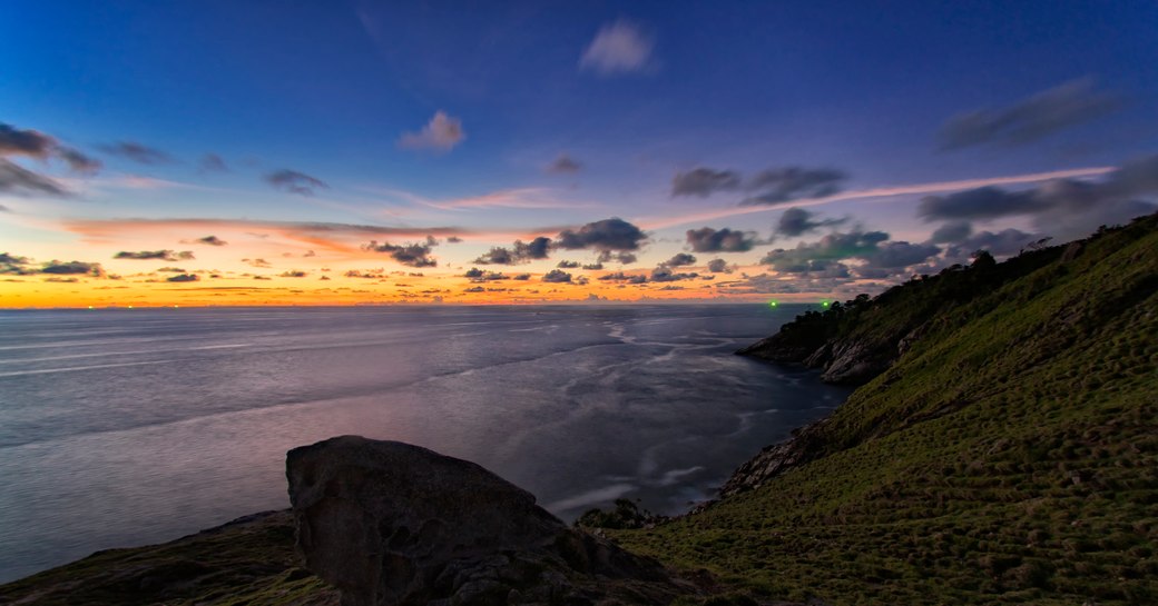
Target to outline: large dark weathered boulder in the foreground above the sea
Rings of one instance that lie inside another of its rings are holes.
[[[666,604],[695,587],[483,467],[342,436],[286,459],[306,567],[345,606]]]

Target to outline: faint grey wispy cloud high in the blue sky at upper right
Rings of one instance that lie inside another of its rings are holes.
[[[979,145],[1025,145],[1101,118],[1121,106],[1117,95],[1094,90],[1092,77],[1071,80],[1007,108],[987,108],[950,118],[940,128],[941,149]]]

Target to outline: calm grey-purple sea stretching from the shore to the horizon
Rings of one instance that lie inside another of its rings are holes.
[[[0,582],[288,507],[343,434],[474,460],[565,520],[676,513],[848,390],[732,355],[801,308],[0,311]]]

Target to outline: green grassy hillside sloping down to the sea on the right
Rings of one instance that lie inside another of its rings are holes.
[[[838,331],[922,334],[814,460],[618,540],[834,605],[1158,603],[1158,216],[1025,257],[882,296]]]

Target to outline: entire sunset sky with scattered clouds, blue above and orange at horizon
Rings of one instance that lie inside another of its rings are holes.
[[[1156,31],[1128,0],[9,0],[0,308],[875,294],[1158,209]]]

